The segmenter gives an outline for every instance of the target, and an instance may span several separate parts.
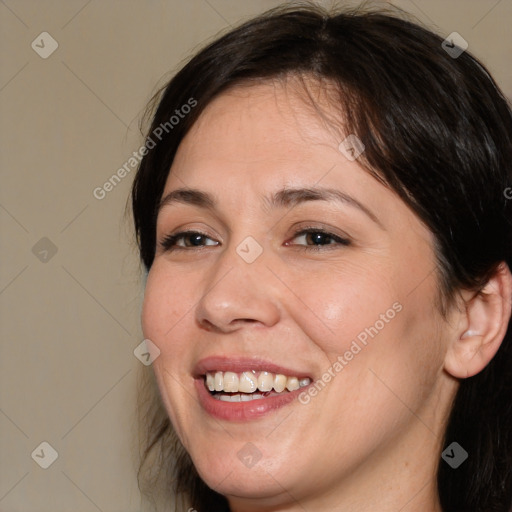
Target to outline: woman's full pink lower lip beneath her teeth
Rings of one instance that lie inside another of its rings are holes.
[[[244,422],[261,418],[290,402],[293,402],[307,386],[267,398],[251,400],[250,402],[223,402],[213,398],[204,385],[204,379],[195,379],[199,402],[203,409],[214,418],[228,421]]]

